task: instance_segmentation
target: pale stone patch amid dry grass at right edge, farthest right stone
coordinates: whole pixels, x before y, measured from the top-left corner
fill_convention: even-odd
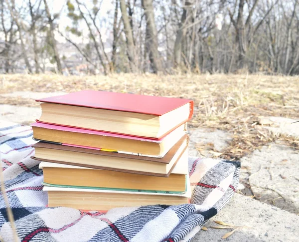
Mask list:
[[[275,133],[291,135],[299,137],[299,122],[295,123],[295,119],[284,118],[284,117],[266,117],[261,120],[262,123],[270,124],[271,127],[264,126]]]

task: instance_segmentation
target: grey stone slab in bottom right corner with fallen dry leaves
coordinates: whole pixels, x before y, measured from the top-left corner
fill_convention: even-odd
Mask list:
[[[219,226],[213,221],[222,221],[235,226],[247,226],[227,239],[221,239],[232,229],[212,229]],[[235,194],[230,203],[199,231],[192,242],[297,242],[299,216],[271,205]]]

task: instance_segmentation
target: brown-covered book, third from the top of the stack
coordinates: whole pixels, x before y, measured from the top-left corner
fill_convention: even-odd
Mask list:
[[[32,145],[35,148],[32,158],[67,165],[168,177],[187,146],[188,135],[185,134],[163,158],[153,158],[38,142]]]

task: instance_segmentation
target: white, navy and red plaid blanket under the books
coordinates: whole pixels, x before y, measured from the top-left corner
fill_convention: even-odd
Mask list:
[[[116,208],[106,214],[47,208],[42,170],[32,160],[32,130],[0,121],[0,159],[5,190],[22,242],[187,242],[230,201],[240,163],[189,158],[191,204]],[[0,237],[13,241],[0,194]]]

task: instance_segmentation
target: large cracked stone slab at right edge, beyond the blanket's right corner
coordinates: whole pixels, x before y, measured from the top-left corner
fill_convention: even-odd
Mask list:
[[[299,214],[299,152],[272,143],[241,159],[240,181],[262,202]]]

